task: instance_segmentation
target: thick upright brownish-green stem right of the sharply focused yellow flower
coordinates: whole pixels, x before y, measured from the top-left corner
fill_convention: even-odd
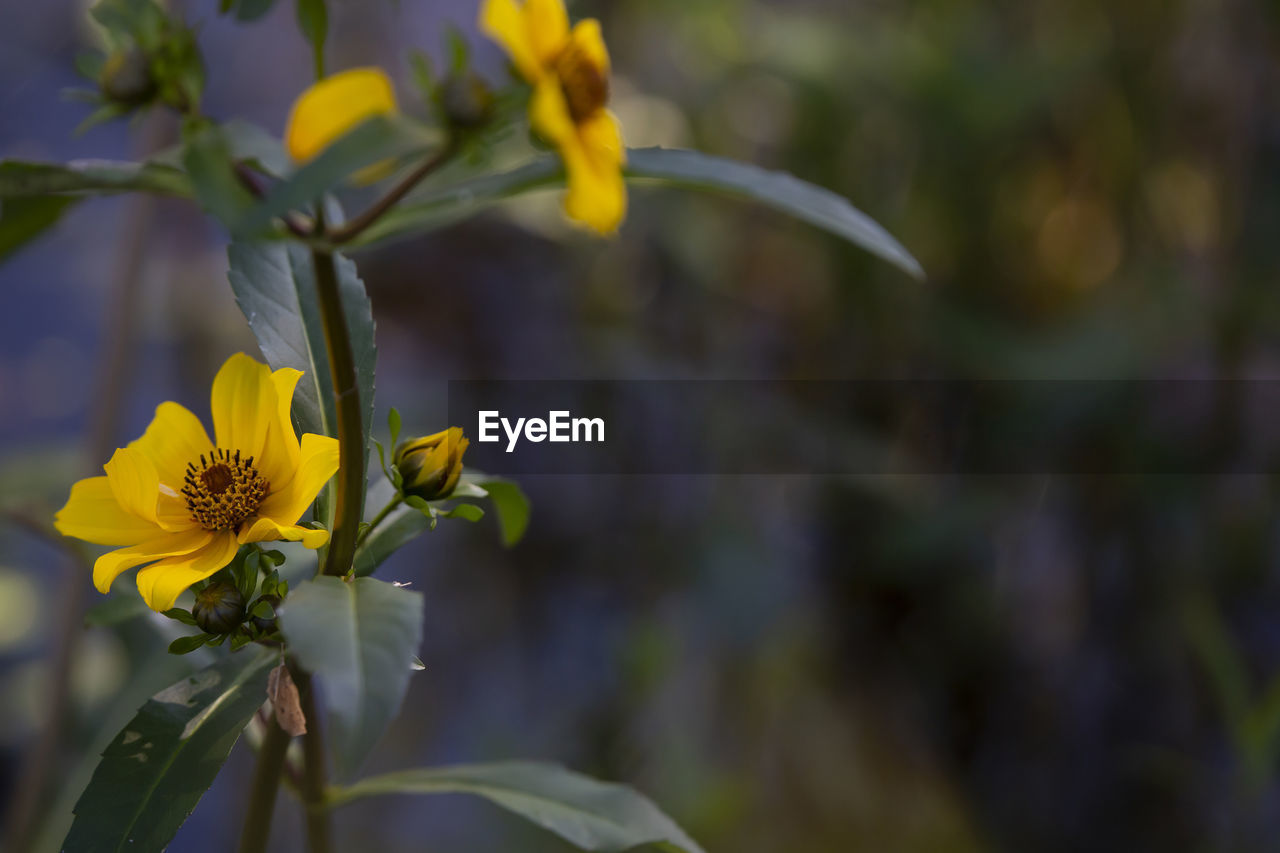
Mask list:
[[[323,219],[317,220],[320,228]],[[325,556],[324,574],[346,575],[356,556],[356,534],[360,530],[361,503],[365,494],[365,428],[360,416],[360,387],[356,384],[356,360],[351,352],[347,315],[338,289],[338,270],[333,254],[311,251],[316,273],[316,297],[324,325],[325,350],[329,352],[329,375],[333,377],[334,405],[338,409],[338,482],[334,500],[333,535]]]

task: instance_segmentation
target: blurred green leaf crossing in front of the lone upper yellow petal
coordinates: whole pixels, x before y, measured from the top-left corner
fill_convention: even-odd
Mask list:
[[[383,160],[420,154],[438,142],[436,133],[404,117],[376,115],[330,145],[288,179],[271,187],[266,197],[232,232],[257,234],[276,216],[311,205],[355,172]]]

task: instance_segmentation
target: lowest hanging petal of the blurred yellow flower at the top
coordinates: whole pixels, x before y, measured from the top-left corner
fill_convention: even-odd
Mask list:
[[[617,119],[604,111],[585,122],[576,143],[561,146],[561,156],[568,177],[564,214],[602,234],[617,231],[627,213]]]

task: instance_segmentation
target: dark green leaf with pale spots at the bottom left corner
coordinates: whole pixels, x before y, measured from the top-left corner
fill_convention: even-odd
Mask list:
[[[266,698],[278,657],[242,652],[155,694],[102,753],[61,849],[163,850]]]

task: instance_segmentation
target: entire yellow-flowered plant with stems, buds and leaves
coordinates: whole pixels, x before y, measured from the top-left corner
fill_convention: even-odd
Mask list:
[[[270,5],[224,0],[221,10],[250,22]],[[91,14],[106,50],[81,63],[93,83],[83,93],[93,104],[87,122],[175,110],[180,143],[142,163],[0,163],[0,257],[92,196],[191,200],[230,234],[228,282],[265,364],[229,355],[211,383],[212,433],[161,402],[146,432],[76,483],[56,514],[61,534],[108,548],[91,573],[100,592],[114,584],[114,596],[133,596],[116,579],[136,570],[141,601],[182,625],[170,652],[218,647],[212,663],[157,693],[119,731],[63,849],[164,849],[248,730],[257,771],[242,850],[265,849],[288,776],[312,850],[332,849],[329,816],[339,806],[453,792],[488,798],[586,850],[698,852],[639,793],[556,765],[360,777],[415,678],[422,638],[421,594],[376,578],[380,564],[440,519],[474,521],[486,506],[515,544],[529,503],[515,483],[463,466],[467,438],[457,426],[425,425],[425,437],[402,439],[390,409],[390,444],[374,441],[372,313],[344,251],[557,187],[571,222],[614,234],[627,181],[644,179],[774,207],[911,274],[915,261],[847,201],[790,175],[696,151],[627,150],[608,109],[600,26],[572,23],[562,0],[483,0],[477,27],[506,51],[509,78],[480,78],[458,47],[442,77],[415,58],[415,93],[397,93],[378,68],[326,73],[325,3],[297,0],[316,82],[282,120],[283,140],[202,111],[209,72],[197,36],[161,5],[100,0]],[[402,104],[425,106],[429,118]],[[530,145],[524,165],[486,170],[488,149],[520,138],[508,131],[526,122],[544,145]],[[470,170],[445,170],[458,161]],[[344,210],[352,183],[374,184],[376,200]],[[626,240],[625,229],[614,238]],[[371,451],[381,476],[370,478]],[[285,553],[276,543],[301,548]],[[289,749],[293,738],[301,751]]]

